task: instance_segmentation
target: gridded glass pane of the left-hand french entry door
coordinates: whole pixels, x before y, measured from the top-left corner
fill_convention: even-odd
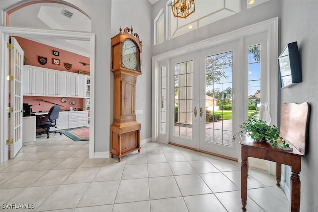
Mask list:
[[[174,136],[192,139],[193,61],[174,65]]]

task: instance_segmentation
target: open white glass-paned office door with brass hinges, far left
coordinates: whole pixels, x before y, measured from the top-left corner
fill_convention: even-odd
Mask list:
[[[11,38],[11,44],[13,49],[10,49],[10,75],[13,76],[13,80],[10,81],[10,104],[13,112],[10,113],[10,139],[13,143],[10,145],[10,157],[14,158],[22,148],[23,50],[14,37]]]

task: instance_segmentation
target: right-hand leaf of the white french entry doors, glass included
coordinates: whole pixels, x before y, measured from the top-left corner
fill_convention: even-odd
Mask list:
[[[238,74],[238,45],[231,42],[200,53],[200,149],[232,158],[239,157],[239,142],[232,142],[232,132],[239,126],[234,121],[241,113],[235,108],[244,93],[237,86],[244,75],[243,70]]]

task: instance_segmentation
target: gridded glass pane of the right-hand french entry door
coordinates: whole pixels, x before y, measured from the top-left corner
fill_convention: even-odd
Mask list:
[[[206,57],[205,142],[232,146],[233,52]]]

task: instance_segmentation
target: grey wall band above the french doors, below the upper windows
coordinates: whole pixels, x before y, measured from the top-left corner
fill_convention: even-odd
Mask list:
[[[156,4],[154,4],[152,20],[155,19],[161,8],[164,9],[164,13],[166,14],[166,2],[167,0],[159,0]],[[171,9],[171,7],[169,7],[169,9]],[[196,10],[196,12],[200,11]],[[247,1],[241,0],[241,12],[203,26],[197,30],[193,30],[186,34],[180,35],[171,40],[167,40],[163,43],[157,44],[153,48],[153,55],[159,55],[161,53],[188,45],[190,43],[196,43],[198,41],[205,40],[236,29],[240,29],[244,26],[249,26],[251,24],[268,20],[274,17],[280,17],[280,1],[270,0],[260,5],[254,6],[250,9],[247,9]]]

